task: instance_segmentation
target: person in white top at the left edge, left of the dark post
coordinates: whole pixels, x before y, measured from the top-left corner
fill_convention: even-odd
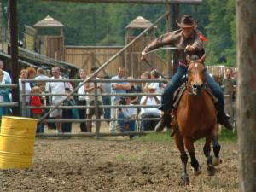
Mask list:
[[[4,79],[3,77],[4,77],[3,70],[0,69],[0,84],[10,84],[8,79]],[[0,103],[10,102],[9,91],[10,91],[9,88],[0,88]],[[11,113],[10,108],[0,107],[0,117],[2,117],[3,115],[9,115],[10,113]]]

